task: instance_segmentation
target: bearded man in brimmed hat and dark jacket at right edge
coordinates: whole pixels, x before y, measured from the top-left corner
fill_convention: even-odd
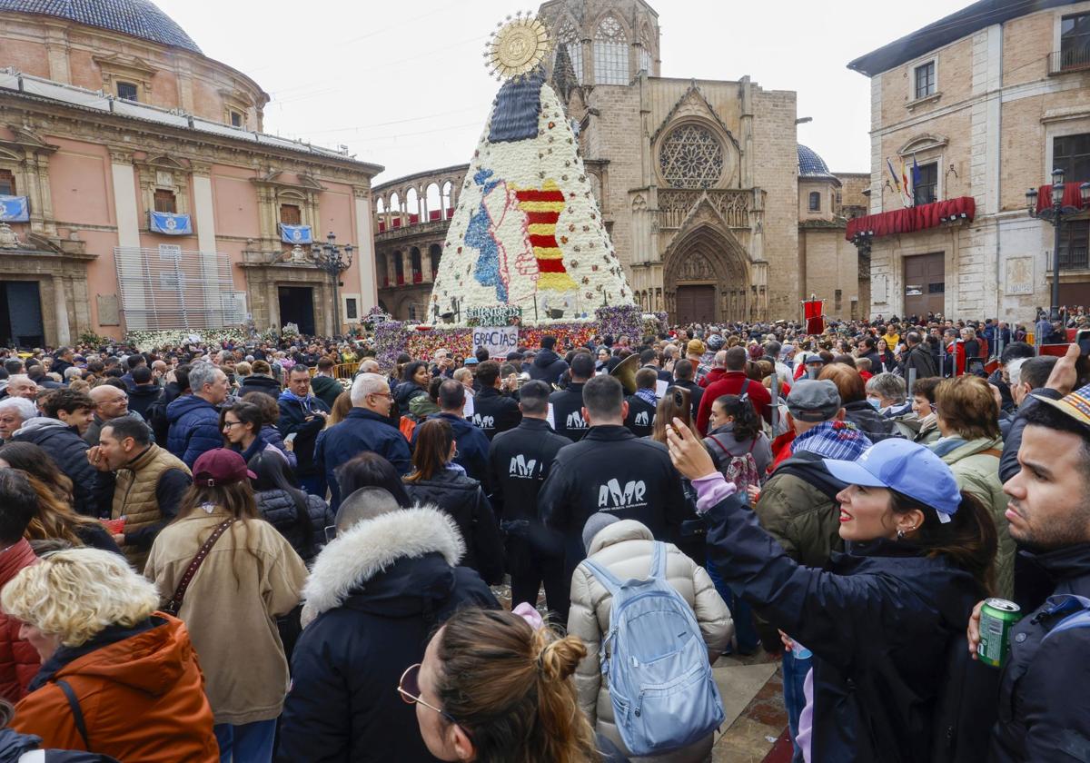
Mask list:
[[[1009,635],[989,755],[1001,763],[1090,760],[1090,694],[1078,688],[1090,665],[1083,619],[1090,608],[1090,386],[1069,391],[1078,354],[1071,344],[1046,385],[1067,393],[1040,396],[1041,404],[1019,413],[1019,471],[1003,486],[1010,537],[1054,588],[1034,609],[1022,607]],[[982,604],[969,621],[973,653]],[[1071,616],[1083,627],[1071,627]]]

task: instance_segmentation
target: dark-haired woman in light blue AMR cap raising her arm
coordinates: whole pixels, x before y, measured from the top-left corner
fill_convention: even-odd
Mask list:
[[[988,595],[995,525],[928,448],[883,440],[859,461],[825,459],[847,487],[829,571],[802,567],[758,524],[700,440],[670,432],[675,467],[692,480],[719,574],[759,615],[814,654],[811,761],[930,761],[947,655]],[[994,698],[981,697],[982,701]],[[967,734],[960,728],[958,734]],[[945,735],[943,735],[945,737]]]

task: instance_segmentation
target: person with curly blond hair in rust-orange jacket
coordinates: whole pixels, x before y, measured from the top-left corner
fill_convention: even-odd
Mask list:
[[[189,632],[156,611],[155,586],[122,557],[56,552],[20,571],[0,603],[41,657],[16,731],[123,761],[218,760]]]

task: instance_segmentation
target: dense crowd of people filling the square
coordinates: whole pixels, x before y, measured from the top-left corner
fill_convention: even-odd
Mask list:
[[[764,650],[797,761],[1090,760],[1065,328],[0,351],[0,749],[707,761]]]

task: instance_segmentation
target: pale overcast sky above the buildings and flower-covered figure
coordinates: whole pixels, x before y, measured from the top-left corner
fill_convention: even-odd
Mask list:
[[[514,0],[156,0],[210,56],[271,96],[265,131],[336,147],[387,169],[377,182],[469,161],[498,88],[488,34]],[[834,171],[869,171],[870,81],[852,58],[962,1],[651,0],[662,74],[798,93],[799,142]]]

